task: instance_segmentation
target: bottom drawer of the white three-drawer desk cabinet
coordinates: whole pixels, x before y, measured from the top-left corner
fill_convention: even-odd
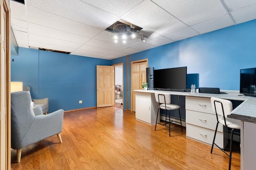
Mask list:
[[[212,145],[214,130],[186,123],[186,136]],[[223,147],[223,133],[217,131],[215,143]]]

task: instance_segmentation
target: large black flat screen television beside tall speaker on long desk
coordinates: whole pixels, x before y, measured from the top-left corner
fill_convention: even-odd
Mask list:
[[[185,92],[187,89],[187,67],[154,70],[154,89]]]

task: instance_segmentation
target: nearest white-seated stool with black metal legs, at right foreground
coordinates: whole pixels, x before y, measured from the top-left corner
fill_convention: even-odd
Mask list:
[[[231,119],[231,118],[227,117],[227,115],[229,115],[230,112],[233,110],[232,102],[230,102],[229,100],[212,97],[211,98],[211,103],[212,103],[212,109],[216,113],[216,117],[217,117],[217,125],[216,125],[216,130],[215,130],[215,133],[214,133],[214,138],[213,138],[213,141],[212,141],[211,153],[212,153],[214,145],[216,145],[216,147],[218,147],[220,150],[222,150],[229,157],[228,169],[230,170],[231,159],[232,159],[233,134],[234,134],[234,129],[240,129],[240,120]],[[232,129],[231,130],[231,137],[230,137],[230,153],[229,154],[223,148],[220,148],[215,143],[215,137],[216,137],[216,133],[217,133],[219,123],[221,125],[224,125],[224,126],[229,127],[229,128]]]

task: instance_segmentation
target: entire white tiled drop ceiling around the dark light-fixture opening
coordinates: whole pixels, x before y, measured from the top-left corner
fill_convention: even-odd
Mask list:
[[[256,19],[256,0],[25,0],[10,1],[18,47],[116,59]],[[118,20],[142,27],[141,37],[114,43]]]

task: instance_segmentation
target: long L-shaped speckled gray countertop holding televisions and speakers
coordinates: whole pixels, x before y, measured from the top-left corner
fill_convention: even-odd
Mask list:
[[[227,100],[240,100],[244,101],[236,109],[234,109],[228,117],[233,119],[238,119],[241,121],[247,121],[251,123],[256,123],[256,97],[252,96],[238,96],[238,90],[220,90],[220,94],[208,94],[208,93],[190,93],[190,92],[172,92],[172,91],[158,91],[158,90],[134,90],[135,92],[145,92],[145,93],[156,93],[156,92],[166,92],[171,95],[181,95],[181,96],[193,96],[200,98],[222,98]]]

